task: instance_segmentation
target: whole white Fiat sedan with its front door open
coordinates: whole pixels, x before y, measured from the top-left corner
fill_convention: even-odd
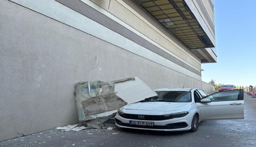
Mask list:
[[[202,120],[244,119],[244,91],[208,95],[200,89],[156,89],[156,97],[125,105],[116,114],[121,128],[195,132]]]

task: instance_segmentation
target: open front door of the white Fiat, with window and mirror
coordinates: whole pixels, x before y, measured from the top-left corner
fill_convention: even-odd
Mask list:
[[[242,89],[213,93],[197,104],[200,109],[200,120],[244,119],[244,90]]]

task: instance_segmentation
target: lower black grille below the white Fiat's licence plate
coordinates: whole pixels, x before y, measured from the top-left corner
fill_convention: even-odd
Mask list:
[[[115,118],[116,119],[116,118]],[[139,126],[139,125],[130,125],[129,123],[123,123],[122,121],[116,119],[117,125],[133,128],[147,128],[147,129],[181,129],[188,127],[186,122],[170,123],[165,126]]]

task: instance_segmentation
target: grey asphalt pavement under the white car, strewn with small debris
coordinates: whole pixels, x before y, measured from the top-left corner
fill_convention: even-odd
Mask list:
[[[244,97],[245,119],[202,121],[196,132],[47,130],[2,141],[0,147],[256,147],[256,98],[251,97]]]

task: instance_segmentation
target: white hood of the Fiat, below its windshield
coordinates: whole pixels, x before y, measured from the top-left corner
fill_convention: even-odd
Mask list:
[[[138,102],[125,105],[127,110],[174,111],[188,107],[189,102]]]

